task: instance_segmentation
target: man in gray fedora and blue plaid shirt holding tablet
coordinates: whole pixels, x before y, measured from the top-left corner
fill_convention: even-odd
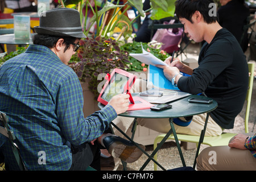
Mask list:
[[[0,110],[9,118],[27,169],[100,170],[101,146],[127,163],[137,160],[142,155],[137,147],[107,132],[109,123],[127,110],[128,94],[84,118],[80,81],[67,65],[79,40],[86,38],[79,12],[48,10],[35,31],[34,44],[0,69]],[[4,141],[0,135],[6,167],[18,169]]]

